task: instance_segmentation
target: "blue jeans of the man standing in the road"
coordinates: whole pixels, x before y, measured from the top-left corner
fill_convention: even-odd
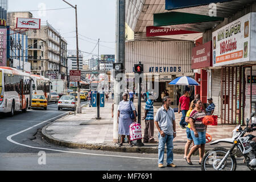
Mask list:
[[[167,165],[171,164],[174,160],[174,153],[172,152],[172,149],[174,148],[174,143],[172,140],[174,140],[174,135],[167,135],[165,134],[164,137],[158,133],[158,164],[163,164],[164,160],[164,146],[167,146]]]

